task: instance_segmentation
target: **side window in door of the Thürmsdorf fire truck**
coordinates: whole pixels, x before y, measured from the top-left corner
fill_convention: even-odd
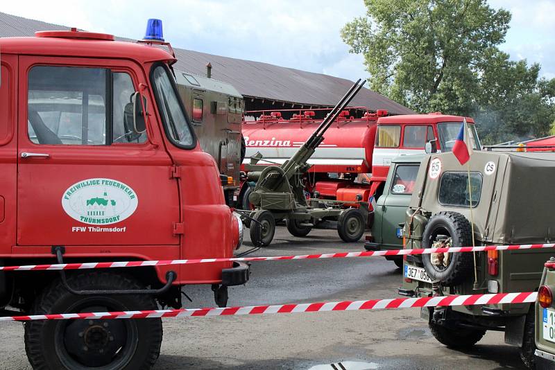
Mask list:
[[[133,124],[134,93],[128,73],[33,67],[28,74],[28,137],[48,145],[144,143],[146,132],[136,132]]]

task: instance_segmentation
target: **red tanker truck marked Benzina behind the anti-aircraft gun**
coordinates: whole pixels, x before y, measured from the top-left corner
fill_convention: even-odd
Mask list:
[[[243,134],[246,143],[244,165],[257,152],[258,164],[287,161],[318,127],[329,109],[245,112]],[[285,119],[284,116],[290,117]],[[479,148],[474,121],[475,147]],[[388,116],[385,110],[369,112],[364,107],[345,109],[325,133],[323,143],[308,163],[312,165],[303,181],[305,190],[323,199],[368,202],[371,195],[382,194],[391,159],[399,155],[434,150],[451,150],[463,117],[441,113]],[[245,169],[245,167],[243,167]],[[239,198],[248,207],[253,184],[244,182]]]

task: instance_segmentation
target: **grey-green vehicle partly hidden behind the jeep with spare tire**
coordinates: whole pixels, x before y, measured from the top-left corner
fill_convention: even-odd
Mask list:
[[[402,155],[391,161],[384,192],[372,203],[371,231],[366,236],[367,251],[403,248],[402,225],[409,206],[418,166],[424,155]],[[386,256],[398,267],[403,266],[402,256]]]

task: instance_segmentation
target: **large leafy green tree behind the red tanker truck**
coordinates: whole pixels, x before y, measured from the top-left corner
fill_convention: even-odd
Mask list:
[[[364,55],[370,88],[417,112],[484,119],[483,141],[543,135],[555,83],[499,51],[511,13],[485,0],[365,0],[341,36]]]

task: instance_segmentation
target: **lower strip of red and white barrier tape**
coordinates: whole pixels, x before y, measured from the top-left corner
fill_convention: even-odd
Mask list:
[[[273,313],[325,312],[351,310],[384,310],[392,308],[474,306],[499,303],[532,303],[536,292],[450,295],[445,297],[372,299],[369,301],[341,301],[322,303],[280,304],[230,308],[183,308],[180,310],[146,310],[123,312],[81,312],[51,315],[0,317],[0,321],[32,321],[61,319],[148,319],[153,317],[203,317],[266,315]]]

